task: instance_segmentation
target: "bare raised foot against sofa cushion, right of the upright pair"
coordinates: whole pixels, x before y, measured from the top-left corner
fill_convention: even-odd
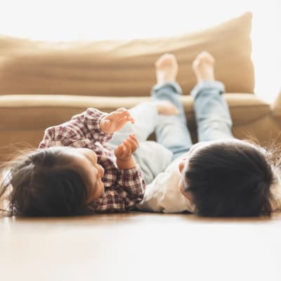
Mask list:
[[[214,57],[207,51],[197,55],[197,58],[195,58],[192,63],[197,82],[200,82],[201,80],[214,80],[214,63]]]

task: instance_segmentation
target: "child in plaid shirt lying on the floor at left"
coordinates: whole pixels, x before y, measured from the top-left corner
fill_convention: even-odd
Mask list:
[[[0,198],[9,192],[11,215],[73,216],[133,209],[145,190],[143,174],[133,157],[138,138],[143,149],[146,145],[153,150],[152,156],[156,153],[159,159],[162,155],[162,164],[154,173],[171,161],[171,152],[141,137],[154,127],[140,123],[133,126],[136,134],[124,135],[129,127],[122,130],[124,125],[134,123],[132,115],[145,111],[146,124],[158,113],[177,113],[173,104],[162,100],[141,103],[130,112],[119,108],[106,114],[89,108],[68,122],[46,129],[38,150],[23,153],[6,166],[8,174],[0,185]],[[122,141],[116,136],[112,139],[118,131],[125,136]],[[139,161],[143,164],[142,159]]]

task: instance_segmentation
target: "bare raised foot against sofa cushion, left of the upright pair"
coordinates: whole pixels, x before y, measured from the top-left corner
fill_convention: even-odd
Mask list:
[[[155,63],[157,84],[176,81],[178,74],[178,63],[176,57],[171,53],[165,53]]]

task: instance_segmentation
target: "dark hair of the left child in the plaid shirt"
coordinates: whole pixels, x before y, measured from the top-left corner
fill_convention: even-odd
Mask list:
[[[84,214],[86,185],[60,150],[44,149],[17,157],[0,183],[8,211],[18,216],[73,216]]]

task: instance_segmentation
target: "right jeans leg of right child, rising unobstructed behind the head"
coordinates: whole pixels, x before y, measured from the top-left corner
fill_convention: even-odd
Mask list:
[[[219,81],[200,81],[191,91],[194,98],[198,141],[234,138],[233,122],[226,100],[221,94],[224,86]]]

